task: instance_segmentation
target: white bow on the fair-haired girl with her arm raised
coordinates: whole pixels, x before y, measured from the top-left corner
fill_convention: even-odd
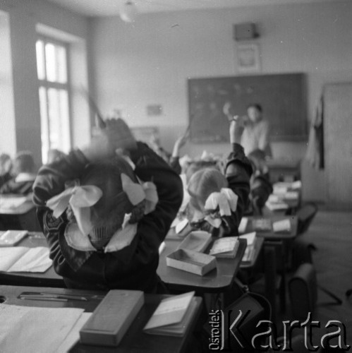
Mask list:
[[[229,188],[222,188],[220,192],[211,193],[205,201],[205,210],[217,210],[219,207],[220,216],[230,216],[231,211],[235,212],[237,208],[238,196]],[[213,227],[219,228],[221,218],[214,215],[207,215],[205,220]]]

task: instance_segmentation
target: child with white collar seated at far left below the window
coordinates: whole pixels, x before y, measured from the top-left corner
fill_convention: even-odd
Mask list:
[[[32,152],[18,152],[13,160],[13,178],[1,186],[0,193],[17,193],[26,196],[32,192],[35,181],[35,162]]]

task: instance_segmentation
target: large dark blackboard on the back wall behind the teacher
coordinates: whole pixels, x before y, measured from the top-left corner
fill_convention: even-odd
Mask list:
[[[193,143],[229,141],[229,121],[223,113],[247,114],[248,104],[259,103],[270,124],[270,138],[307,138],[306,89],[303,73],[188,79],[190,140]]]

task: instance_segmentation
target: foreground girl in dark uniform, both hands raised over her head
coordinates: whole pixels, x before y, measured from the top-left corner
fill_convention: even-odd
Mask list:
[[[134,170],[116,156],[121,148]],[[75,179],[80,186],[65,190]],[[163,292],[158,250],[181,205],[181,179],[121,119],[106,121],[87,148],[43,166],[33,190],[50,258],[68,287]]]

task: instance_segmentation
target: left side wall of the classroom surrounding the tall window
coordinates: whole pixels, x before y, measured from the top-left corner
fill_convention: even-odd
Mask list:
[[[87,19],[42,0],[1,1],[0,10],[8,14],[10,22],[12,87],[9,89],[13,92],[9,94],[13,95],[12,108],[15,117],[15,121],[13,116],[11,117],[12,125],[6,129],[6,133],[13,140],[15,140],[13,136],[16,136],[16,150],[31,150],[37,164],[41,164],[40,107],[35,57],[36,25],[42,23],[86,40]],[[86,57],[83,59],[86,61]],[[87,70],[85,61],[82,61],[80,70],[82,68]],[[87,73],[85,76],[87,81]],[[11,111],[11,107],[6,109]],[[80,133],[74,134],[76,137],[78,135],[78,141],[74,140],[74,144],[90,138],[90,129],[87,128],[90,126],[88,109],[81,109],[79,116],[80,119],[82,116],[85,118],[83,122],[80,121]],[[15,152],[13,145],[10,146],[11,144],[9,152]]]

